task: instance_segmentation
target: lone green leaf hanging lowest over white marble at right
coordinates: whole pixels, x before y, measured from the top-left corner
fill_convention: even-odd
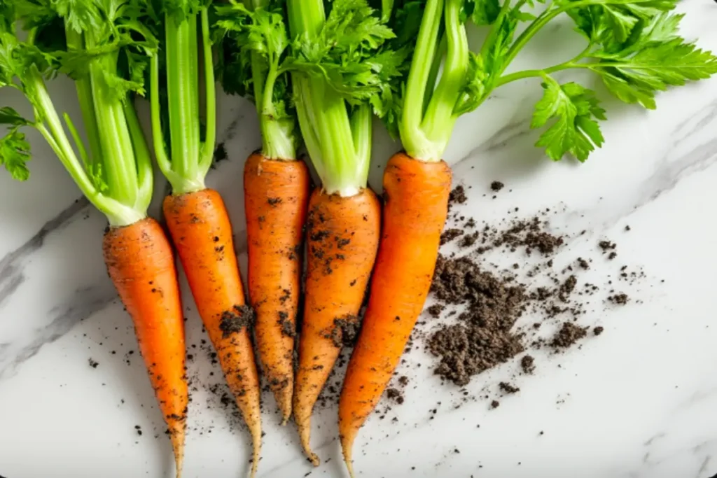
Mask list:
[[[551,77],[544,77],[543,97],[536,103],[531,128],[541,128],[554,123],[541,135],[536,146],[546,148],[546,154],[559,161],[570,153],[579,161],[604,141],[596,120],[604,120],[605,111],[600,107],[595,93],[577,83],[559,85]]]

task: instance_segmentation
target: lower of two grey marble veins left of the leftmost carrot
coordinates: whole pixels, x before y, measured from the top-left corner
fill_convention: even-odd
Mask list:
[[[51,322],[32,331],[32,339],[19,348],[0,343],[0,379],[14,374],[19,365],[33,358],[44,345],[62,338],[77,323],[103,310],[117,297],[110,287],[92,286],[77,290],[64,304],[52,307]]]

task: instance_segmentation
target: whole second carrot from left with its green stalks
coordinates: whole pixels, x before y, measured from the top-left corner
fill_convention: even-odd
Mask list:
[[[244,301],[226,206],[219,193],[204,183],[217,129],[209,4],[185,6],[178,9],[173,2],[161,2],[161,18],[146,16],[146,27],[163,38],[164,52],[163,62],[153,54],[150,66],[154,150],[172,186],[163,203],[169,232],[224,377],[252,435],[253,477],[262,438],[260,385],[251,341],[253,312]],[[201,70],[204,125],[199,117]],[[161,80],[166,82],[163,89]]]

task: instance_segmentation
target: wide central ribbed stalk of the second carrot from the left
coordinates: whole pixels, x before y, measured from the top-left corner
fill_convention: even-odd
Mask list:
[[[166,16],[167,95],[172,171],[181,181],[172,183],[175,194],[204,189],[199,174],[199,73],[196,14],[177,24]]]

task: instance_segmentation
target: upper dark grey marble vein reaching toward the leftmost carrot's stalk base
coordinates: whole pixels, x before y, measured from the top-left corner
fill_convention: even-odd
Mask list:
[[[0,259],[0,306],[17,290],[25,276],[22,272],[22,263],[34,252],[42,247],[49,234],[60,231],[70,224],[75,216],[79,215],[88,205],[89,201],[82,197],[60,211],[60,214],[47,221],[34,236],[14,251],[5,254]]]

